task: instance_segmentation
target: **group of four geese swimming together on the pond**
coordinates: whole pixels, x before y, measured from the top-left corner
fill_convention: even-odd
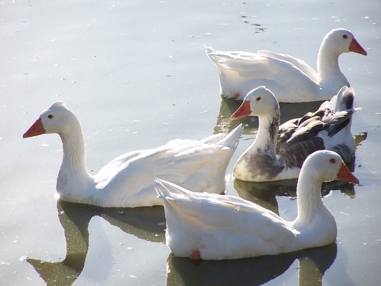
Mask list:
[[[278,255],[334,243],[335,218],[322,200],[323,182],[359,184],[346,167],[353,161],[351,132],[355,91],[339,67],[339,55],[367,55],[351,31],[331,30],[317,55],[317,71],[301,59],[270,51],[223,52],[204,46],[217,67],[220,94],[242,100],[231,120],[258,116],[255,140],[234,165],[238,180],[298,178],[295,220],[258,204],[224,195],[227,167],[243,125],[201,140],[174,139],[116,157],[96,175],[86,166],[78,117],[63,102],[44,109],[23,138],[56,133],[62,163],[59,199],[100,207],[163,205],[166,244],[175,256],[194,260]],[[317,110],[280,124],[279,102],[324,101]],[[238,152],[238,151],[237,151]]]

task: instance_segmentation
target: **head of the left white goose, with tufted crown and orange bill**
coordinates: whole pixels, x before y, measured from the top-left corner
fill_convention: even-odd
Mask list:
[[[22,137],[28,138],[49,133],[69,134],[78,129],[78,124],[77,116],[66,107],[65,103],[57,101],[40,113],[36,122]]]

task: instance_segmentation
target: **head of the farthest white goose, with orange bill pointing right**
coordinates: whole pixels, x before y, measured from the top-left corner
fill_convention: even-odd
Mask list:
[[[367,55],[364,48],[357,42],[355,36],[347,29],[339,28],[331,30],[325,37],[320,47],[322,51],[329,50],[335,55],[347,52],[355,52]]]

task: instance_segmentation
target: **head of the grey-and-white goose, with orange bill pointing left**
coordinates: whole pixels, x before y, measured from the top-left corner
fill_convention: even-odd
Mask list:
[[[274,93],[265,86],[250,90],[243,100],[242,105],[230,117],[231,120],[247,115],[269,116],[279,112],[279,103]]]

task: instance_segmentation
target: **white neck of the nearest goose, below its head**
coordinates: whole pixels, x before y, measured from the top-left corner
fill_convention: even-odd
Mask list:
[[[294,221],[297,229],[308,226],[322,209],[327,209],[321,197],[322,180],[313,175],[314,170],[303,168],[297,185],[298,216]]]

